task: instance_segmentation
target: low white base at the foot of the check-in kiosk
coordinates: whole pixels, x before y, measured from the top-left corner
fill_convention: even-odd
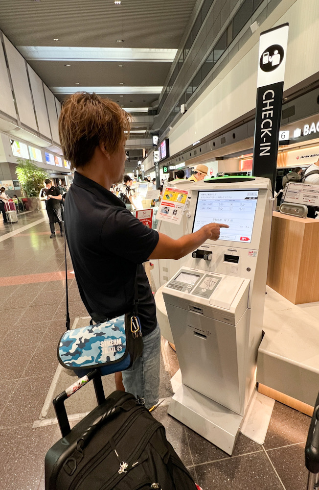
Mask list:
[[[231,456],[243,417],[186,385],[172,398],[168,414]]]

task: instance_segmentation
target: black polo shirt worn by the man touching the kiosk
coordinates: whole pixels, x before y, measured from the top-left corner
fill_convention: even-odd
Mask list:
[[[64,207],[75,278],[88,312],[113,318],[132,308],[138,278],[138,316],[143,335],[156,327],[154,297],[142,265],[159,234],[138,221],[125,204],[75,172]]]

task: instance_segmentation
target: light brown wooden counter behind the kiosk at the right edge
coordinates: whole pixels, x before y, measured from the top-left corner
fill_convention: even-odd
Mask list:
[[[294,304],[319,301],[319,220],[273,213],[267,284]]]

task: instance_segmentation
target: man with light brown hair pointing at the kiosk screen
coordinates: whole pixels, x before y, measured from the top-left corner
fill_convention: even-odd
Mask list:
[[[205,240],[217,240],[220,225],[205,225],[179,240],[138,221],[109,191],[124,174],[129,115],[115,102],[86,92],[64,101],[59,134],[65,158],[76,169],[65,202],[68,246],[81,298],[93,318],[114,318],[131,310],[138,281],[138,316],[144,349],[123,371],[127,392],[145,406],[158,403],[160,329],[154,297],[143,268],[148,259],[179,259]],[[121,387],[120,373],[115,375]]]

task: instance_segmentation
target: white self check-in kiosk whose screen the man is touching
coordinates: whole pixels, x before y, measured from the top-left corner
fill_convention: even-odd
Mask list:
[[[182,373],[168,413],[228,454],[255,387],[272,209],[269,179],[194,183],[186,233],[210,222],[229,228],[185,257],[162,289]]]

